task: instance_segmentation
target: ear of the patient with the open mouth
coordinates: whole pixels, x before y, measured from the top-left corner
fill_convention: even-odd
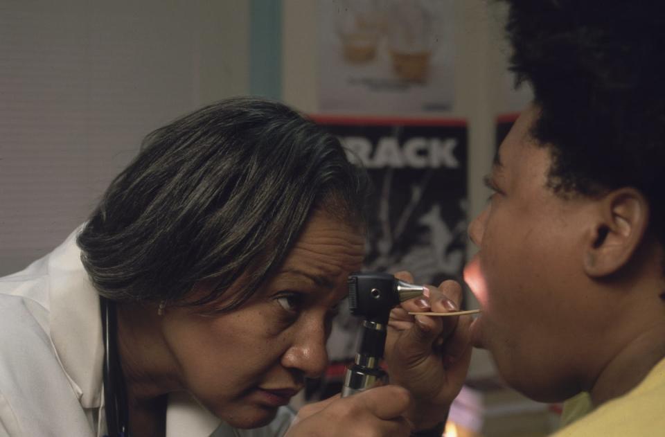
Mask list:
[[[599,199],[585,241],[586,274],[606,276],[626,265],[644,238],[648,221],[646,197],[634,188],[620,188]]]

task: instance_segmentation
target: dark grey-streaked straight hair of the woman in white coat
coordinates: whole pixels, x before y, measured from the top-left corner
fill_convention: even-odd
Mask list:
[[[155,130],[78,235],[112,301],[210,303],[241,276],[233,309],[281,265],[313,208],[364,226],[368,179],[332,135],[289,107],[233,98]]]

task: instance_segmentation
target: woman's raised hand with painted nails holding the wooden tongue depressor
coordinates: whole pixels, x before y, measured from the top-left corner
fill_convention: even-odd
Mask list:
[[[396,278],[413,283],[408,272]],[[470,316],[420,316],[409,312],[452,312],[459,309],[462,288],[446,280],[427,286],[429,296],[402,302],[391,311],[386,340],[386,364],[391,384],[411,392],[414,402],[407,418],[416,429],[430,429],[447,417],[461,390],[471,359]]]

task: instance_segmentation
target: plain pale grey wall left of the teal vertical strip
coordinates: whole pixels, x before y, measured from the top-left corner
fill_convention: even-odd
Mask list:
[[[0,3],[0,275],[85,220],[151,130],[247,93],[246,0]]]

